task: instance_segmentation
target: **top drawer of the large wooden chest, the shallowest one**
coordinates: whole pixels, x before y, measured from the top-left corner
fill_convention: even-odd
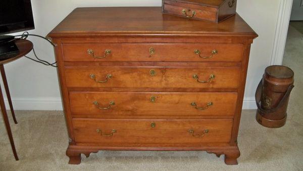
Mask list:
[[[239,62],[242,44],[64,44],[64,61]]]

